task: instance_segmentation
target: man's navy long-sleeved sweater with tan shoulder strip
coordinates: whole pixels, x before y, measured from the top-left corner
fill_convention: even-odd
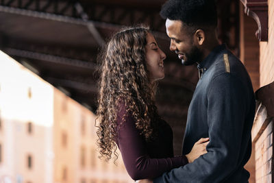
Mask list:
[[[153,182],[248,182],[255,99],[249,75],[225,45],[198,65],[202,69],[188,109],[183,154],[208,136],[207,154]]]

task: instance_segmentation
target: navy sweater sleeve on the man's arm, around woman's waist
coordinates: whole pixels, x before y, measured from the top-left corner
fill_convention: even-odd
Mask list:
[[[223,182],[232,175],[242,166],[241,149],[247,148],[241,143],[251,130],[245,126],[249,101],[247,89],[238,78],[229,73],[215,77],[208,89],[208,153],[153,182]]]

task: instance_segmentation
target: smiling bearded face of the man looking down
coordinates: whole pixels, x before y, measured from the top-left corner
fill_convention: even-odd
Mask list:
[[[202,53],[195,45],[194,35],[190,35],[183,27],[182,21],[171,21],[166,19],[166,34],[171,38],[169,49],[178,54],[182,64],[191,65],[201,62]]]

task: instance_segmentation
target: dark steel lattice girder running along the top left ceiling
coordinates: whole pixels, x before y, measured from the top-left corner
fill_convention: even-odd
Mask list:
[[[79,8],[81,6],[82,9]],[[84,25],[92,23],[96,27],[113,29],[146,23],[153,31],[164,32],[164,20],[160,18],[159,11],[99,3],[82,4],[80,1],[1,0],[0,2],[0,12]]]

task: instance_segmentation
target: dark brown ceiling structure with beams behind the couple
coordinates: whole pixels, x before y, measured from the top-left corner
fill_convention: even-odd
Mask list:
[[[182,66],[169,51],[165,0],[1,0],[0,49],[92,112],[97,109],[97,54],[122,27],[149,25],[166,53],[157,106],[173,127],[180,152],[188,105],[198,81],[196,66]],[[238,0],[217,1],[219,38],[238,54]],[[231,34],[234,32],[234,34]]]

